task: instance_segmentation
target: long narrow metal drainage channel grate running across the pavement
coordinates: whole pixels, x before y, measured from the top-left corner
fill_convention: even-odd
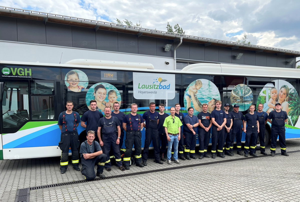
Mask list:
[[[293,153],[293,152],[300,152],[300,150],[290,151],[290,152],[286,152],[286,153]],[[280,155],[280,153],[277,153],[276,155]],[[269,154],[267,156],[271,156],[271,154]],[[199,164],[176,166],[176,167],[162,168],[162,169],[157,169],[157,170],[147,170],[147,171],[142,171],[142,172],[137,172],[137,173],[128,173],[128,174],[122,174],[122,175],[107,176],[105,178],[95,178],[92,180],[78,180],[78,181],[73,181],[73,182],[63,182],[63,183],[57,183],[57,184],[51,184],[51,185],[42,185],[42,186],[30,187],[30,190],[59,187],[59,186],[64,186],[64,185],[72,185],[72,184],[79,184],[79,183],[84,183],[84,182],[99,181],[99,180],[104,180],[104,179],[129,177],[129,176],[135,176],[135,175],[143,175],[143,174],[147,174],[147,173],[155,173],[155,172],[162,172],[162,171],[167,171],[167,170],[176,170],[176,169],[182,169],[182,168],[219,164],[219,163],[226,163],[226,162],[232,162],[232,161],[241,161],[241,160],[246,160],[246,159],[262,158],[262,157],[265,157],[265,155],[259,155],[257,157],[251,156],[251,157],[244,157],[244,158],[228,159],[228,160],[223,160],[223,161],[213,161],[213,162],[206,162],[206,163],[199,163]]]

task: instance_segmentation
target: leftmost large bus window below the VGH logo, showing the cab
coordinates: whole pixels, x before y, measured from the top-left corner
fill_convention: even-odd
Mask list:
[[[5,128],[19,128],[29,120],[28,82],[5,82],[2,97],[3,133]]]

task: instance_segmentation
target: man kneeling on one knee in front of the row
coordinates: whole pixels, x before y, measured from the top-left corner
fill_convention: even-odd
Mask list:
[[[103,168],[107,155],[103,154],[99,143],[94,141],[95,131],[88,131],[86,139],[80,146],[81,174],[85,176],[86,180],[92,180],[96,176],[104,178]],[[95,165],[97,165],[96,175],[94,170]]]

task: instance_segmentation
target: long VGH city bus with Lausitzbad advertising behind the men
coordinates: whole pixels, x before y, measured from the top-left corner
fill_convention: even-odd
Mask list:
[[[289,117],[286,138],[300,137],[297,69],[198,63],[182,71],[169,71],[156,70],[145,63],[86,59],[66,64],[0,61],[0,67],[1,160],[60,156],[61,132],[57,122],[68,100],[73,101],[73,110],[80,116],[89,110],[92,99],[97,100],[97,109],[101,111],[117,101],[120,111],[130,113],[130,105],[136,103],[140,114],[149,110],[150,102],[156,106],[165,104],[166,113],[179,103],[184,115],[187,107],[193,107],[197,115],[203,103],[208,104],[211,112],[216,100],[229,103],[229,111],[239,104],[243,114],[249,112],[251,104],[257,109],[262,103],[268,113],[273,110],[272,103],[278,101]],[[101,95],[99,85],[106,90]],[[115,100],[108,98],[109,92]],[[265,143],[269,142],[270,132],[267,124]],[[83,142],[85,128],[79,125],[78,134]],[[143,129],[142,147],[144,140]]]

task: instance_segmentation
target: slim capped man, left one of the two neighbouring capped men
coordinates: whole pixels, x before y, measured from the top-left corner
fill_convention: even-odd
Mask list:
[[[225,133],[224,133],[224,146],[223,146],[223,154],[226,154],[228,156],[233,156],[233,152],[230,153],[230,144],[231,144],[231,136],[232,136],[232,113],[228,112],[230,108],[230,104],[226,103],[224,104],[224,112],[227,115],[226,118],[226,124],[224,125],[225,127]]]

